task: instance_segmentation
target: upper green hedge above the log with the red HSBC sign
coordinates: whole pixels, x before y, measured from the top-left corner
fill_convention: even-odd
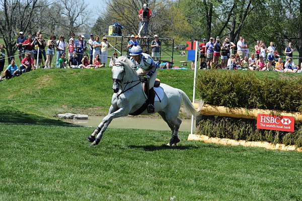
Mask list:
[[[302,75],[203,71],[197,89],[207,104],[302,112]]]

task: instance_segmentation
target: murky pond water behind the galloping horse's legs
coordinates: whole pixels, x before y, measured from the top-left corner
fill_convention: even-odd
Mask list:
[[[102,121],[103,116],[89,116],[89,119],[78,120],[70,119],[66,120],[67,122],[83,125],[83,126],[92,126],[96,127]],[[135,129],[152,129],[152,130],[170,130],[167,123],[158,117],[148,118],[148,117],[119,117],[111,121],[110,128],[135,128]],[[194,121],[195,128],[195,121]],[[180,125],[181,131],[190,131],[191,130],[191,119],[182,119]]]

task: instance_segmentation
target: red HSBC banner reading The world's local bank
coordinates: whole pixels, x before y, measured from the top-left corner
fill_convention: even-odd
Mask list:
[[[293,116],[274,116],[270,114],[258,114],[257,128],[268,130],[294,131]]]

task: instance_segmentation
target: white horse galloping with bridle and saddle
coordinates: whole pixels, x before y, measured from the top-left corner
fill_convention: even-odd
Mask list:
[[[146,108],[142,107],[147,98],[143,92],[141,78],[136,75],[132,65],[130,59],[125,56],[120,56],[115,60],[112,67],[114,94],[112,95],[111,106],[108,115],[88,137],[92,146],[99,144],[112,119],[128,114],[133,115],[133,113],[139,113],[139,110],[142,111],[141,114],[149,114]],[[181,101],[183,101],[187,113],[195,115],[196,110],[189,97],[182,90],[166,84],[161,84],[159,88],[163,90],[163,95],[160,101],[155,101],[155,112],[158,112],[171,128],[172,137],[168,145],[174,146],[180,142],[177,135],[181,124],[181,119],[178,118]]]

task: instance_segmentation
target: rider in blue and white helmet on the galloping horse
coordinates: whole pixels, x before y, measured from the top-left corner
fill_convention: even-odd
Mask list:
[[[134,70],[138,76],[147,76],[148,78],[148,113],[154,113],[154,98],[155,91],[153,89],[155,79],[157,77],[157,65],[154,62],[153,58],[146,53],[142,53],[142,49],[140,46],[133,46],[130,50],[129,55],[131,56],[131,61],[133,62]]]

